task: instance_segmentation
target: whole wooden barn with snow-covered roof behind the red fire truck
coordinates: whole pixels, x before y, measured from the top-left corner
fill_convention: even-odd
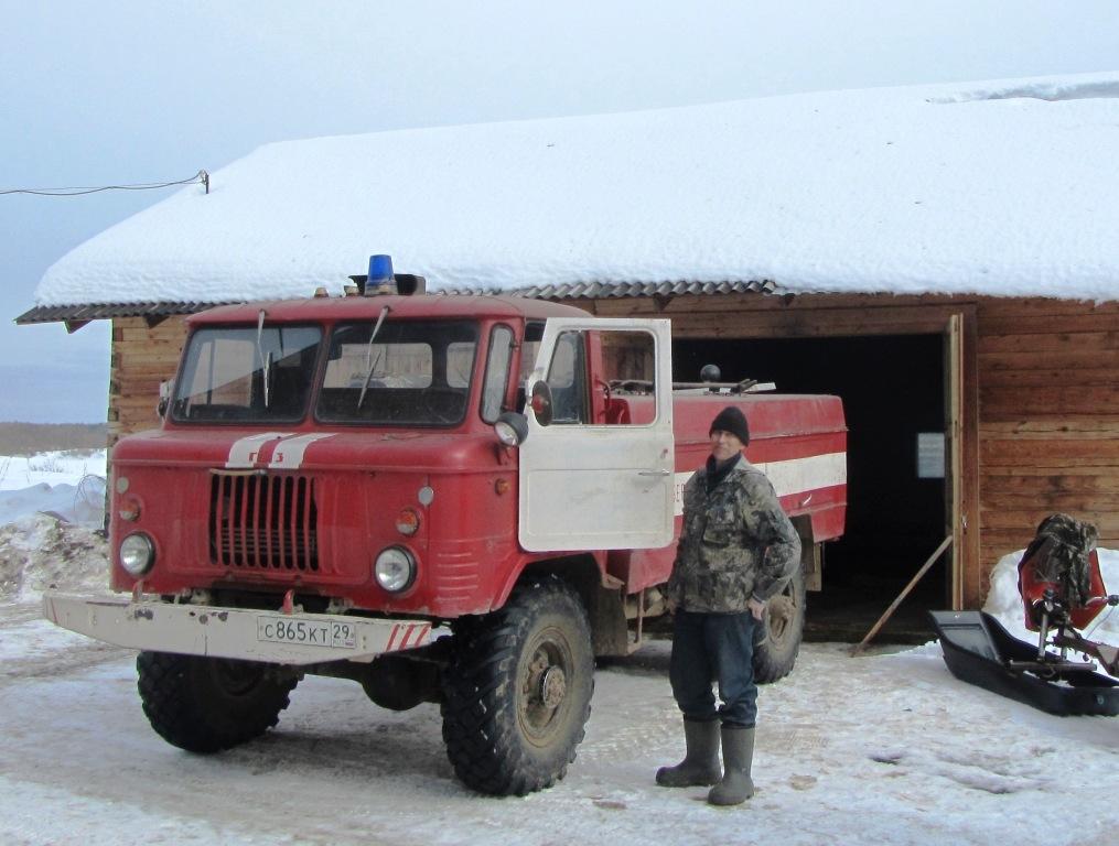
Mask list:
[[[1119,79],[1111,84],[1119,94]],[[1119,548],[1119,255],[1104,232],[1119,178],[1078,156],[1091,126],[1119,124],[1119,101],[1078,99],[1074,85],[1056,86],[1063,94],[1052,98],[1036,96],[1044,85],[1019,88],[1027,93],[894,91],[876,101],[875,121],[857,120],[867,105],[852,93],[859,96],[669,110],[669,123],[667,113],[643,113],[604,116],[598,129],[571,118],[431,130],[419,142],[378,133],[270,145],[216,173],[214,196],[191,189],[79,247],[18,321],[70,330],[112,321],[115,441],[158,425],[159,383],[175,374],[185,315],[318,285],[340,291],[370,251],[414,256],[398,258],[398,269],[423,274],[430,289],[501,289],[602,316],[670,317],[677,379],[715,363],[726,379],[843,398],[848,525],[827,551],[824,606],[850,609],[865,630],[951,535],[920,602],[979,607],[995,563],[1050,513],[1091,521],[1101,545]],[[1029,102],[999,105],[1016,96]],[[821,146],[812,122],[837,115],[857,131],[821,129],[835,135]],[[712,149],[736,121],[749,129]],[[790,124],[814,143],[790,144]],[[1068,140],[1070,126],[1081,136]],[[747,135],[758,158],[787,165],[744,169]],[[499,141],[511,152],[495,156]],[[681,151],[696,148],[689,162],[731,162],[688,172],[702,207],[681,203],[673,186],[642,188],[650,173],[687,170]],[[872,150],[878,158],[867,164]],[[399,197],[411,188],[419,199],[397,201],[391,216],[363,206],[363,179],[358,188],[330,179],[359,172],[359,159],[393,155],[393,172],[376,171],[366,188]],[[632,180],[630,159],[643,167]],[[1024,178],[1031,169],[1044,177]],[[282,190],[272,180],[280,171]],[[555,199],[573,172],[586,192]],[[790,188],[825,177],[838,179],[834,191],[798,198]],[[464,184],[488,193],[460,212]],[[367,231],[378,232],[376,249]],[[225,259],[245,244],[261,249],[258,268],[245,270],[239,254]]]

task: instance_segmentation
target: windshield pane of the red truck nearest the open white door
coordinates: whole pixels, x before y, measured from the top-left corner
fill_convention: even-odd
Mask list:
[[[467,412],[478,349],[469,322],[337,326],[316,415],[328,422],[453,426]],[[373,343],[370,343],[370,340]]]

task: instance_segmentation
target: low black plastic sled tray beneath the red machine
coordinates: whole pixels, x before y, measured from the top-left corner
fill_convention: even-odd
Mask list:
[[[982,611],[929,611],[957,678],[1059,716],[1119,715],[1119,682],[1088,671],[1053,672],[1042,678],[1012,667],[1035,662],[1037,647],[1012,637]]]

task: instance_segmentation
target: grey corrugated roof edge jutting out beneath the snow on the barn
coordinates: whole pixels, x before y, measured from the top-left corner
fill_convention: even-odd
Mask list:
[[[771,279],[758,282],[574,282],[560,285],[529,285],[523,288],[450,287],[431,292],[457,296],[504,294],[529,300],[595,300],[638,296],[680,296],[684,294],[774,294],[778,286]],[[16,317],[16,323],[77,323],[113,317],[168,317],[176,314],[195,314],[223,303],[182,303],[151,301],[145,303],[105,303],[76,305],[37,305]]]

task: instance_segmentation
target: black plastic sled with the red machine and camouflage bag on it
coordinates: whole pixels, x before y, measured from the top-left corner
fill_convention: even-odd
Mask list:
[[[1037,526],[1018,562],[1025,624],[1036,644],[982,611],[930,611],[952,675],[1051,714],[1119,715],[1119,681],[1096,672],[1099,662],[1119,676],[1119,648],[1081,634],[1107,606],[1119,605],[1100,574],[1098,536],[1066,514]]]

